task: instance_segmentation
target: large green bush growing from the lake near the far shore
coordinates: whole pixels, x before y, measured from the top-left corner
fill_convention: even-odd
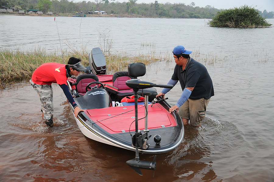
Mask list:
[[[214,27],[230,28],[266,28],[272,25],[266,22],[258,10],[248,5],[217,12],[216,16],[208,24]]]

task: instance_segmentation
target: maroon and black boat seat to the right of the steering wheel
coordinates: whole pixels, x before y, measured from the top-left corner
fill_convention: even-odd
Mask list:
[[[116,72],[112,76],[113,86],[118,90],[116,92],[116,96],[118,100],[121,100],[125,96],[134,95],[133,89],[126,85],[126,81],[130,80],[131,77],[128,76],[128,72]]]

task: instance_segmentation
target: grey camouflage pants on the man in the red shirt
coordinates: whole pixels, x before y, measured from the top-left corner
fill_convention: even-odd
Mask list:
[[[44,119],[49,120],[53,117],[53,91],[51,85],[38,85],[33,83],[31,79],[30,84],[40,97]]]

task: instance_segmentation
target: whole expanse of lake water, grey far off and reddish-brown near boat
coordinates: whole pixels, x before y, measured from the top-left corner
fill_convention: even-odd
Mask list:
[[[58,33],[63,49],[70,42],[91,50],[100,45],[98,32],[104,30],[113,53],[171,57],[173,47],[182,44],[206,65],[215,96],[202,127],[185,127],[181,145],[157,155],[153,177],[153,171],[142,170],[139,176],[126,165],[135,152],[93,141],[79,130],[66,133],[77,124],[59,86],[53,86],[54,127],[49,128],[37,93],[27,81],[18,83],[0,91],[0,181],[273,182],[274,27],[213,28],[207,21],[56,17],[54,22],[54,17],[1,15],[0,47],[11,50],[60,51]],[[274,19],[268,21],[274,24]],[[147,65],[142,79],[167,83],[174,65]],[[180,95],[179,84],[166,94],[170,104]],[[140,155],[141,160],[153,157]]]

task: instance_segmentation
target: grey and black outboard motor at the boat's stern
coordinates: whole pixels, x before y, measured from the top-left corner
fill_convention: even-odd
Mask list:
[[[95,75],[105,75],[107,71],[106,59],[99,47],[95,47],[89,54],[89,63]]]

